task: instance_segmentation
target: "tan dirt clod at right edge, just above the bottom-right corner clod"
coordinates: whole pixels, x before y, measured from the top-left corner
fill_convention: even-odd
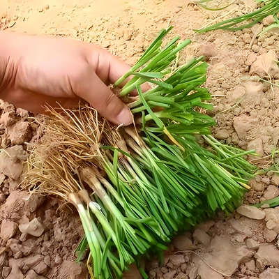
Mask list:
[[[259,246],[255,258],[266,266],[279,268],[279,250],[271,243]]]

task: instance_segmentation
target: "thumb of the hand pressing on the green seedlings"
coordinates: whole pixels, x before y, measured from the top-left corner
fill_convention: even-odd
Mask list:
[[[91,71],[90,71],[91,72]],[[83,77],[77,95],[89,102],[101,116],[115,125],[133,123],[129,108],[103,83],[94,71]]]

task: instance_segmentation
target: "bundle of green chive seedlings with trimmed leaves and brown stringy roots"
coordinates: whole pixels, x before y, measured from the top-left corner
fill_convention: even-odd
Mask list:
[[[89,246],[92,278],[121,278],[150,248],[166,249],[172,236],[217,209],[233,211],[255,170],[243,159],[251,151],[220,144],[210,135],[215,122],[199,112],[211,109],[202,57],[169,70],[190,43],[177,36],[163,47],[171,29],[114,84],[133,76],[119,96],[128,96],[134,126],[112,127],[89,105],[49,108],[45,135],[29,146],[24,183],[76,206],[85,232],[77,250]],[[155,87],[142,93],[144,82]],[[133,89],[137,97],[129,96]]]

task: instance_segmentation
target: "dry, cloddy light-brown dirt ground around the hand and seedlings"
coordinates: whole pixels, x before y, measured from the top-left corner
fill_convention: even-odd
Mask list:
[[[228,2],[213,0],[210,5]],[[206,86],[214,104],[209,113],[218,123],[213,134],[228,144],[256,149],[260,157],[249,159],[267,166],[279,140],[279,40],[276,31],[257,33],[272,19],[234,33],[193,31],[255,6],[253,0],[236,0],[213,12],[188,0],[0,0],[0,30],[70,36],[97,43],[133,64],[160,29],[173,25],[173,36],[193,41],[181,52],[181,63],[194,55],[205,55],[209,62]],[[27,112],[0,103],[0,278],[85,279],[86,265],[73,262],[82,236],[78,217],[65,206],[59,210],[54,197],[29,197],[16,190],[24,172],[24,142],[39,133]],[[246,203],[278,196],[278,184],[273,172],[257,176],[250,181]],[[276,279],[278,234],[279,207],[243,206],[231,218],[220,213],[176,236],[163,267],[154,260],[146,269],[149,278]]]

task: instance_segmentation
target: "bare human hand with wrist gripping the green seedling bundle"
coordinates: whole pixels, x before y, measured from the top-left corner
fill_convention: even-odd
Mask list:
[[[82,98],[112,123],[128,125],[130,110],[107,85],[129,68],[90,43],[0,31],[0,98],[33,113],[56,102],[77,107]]]

